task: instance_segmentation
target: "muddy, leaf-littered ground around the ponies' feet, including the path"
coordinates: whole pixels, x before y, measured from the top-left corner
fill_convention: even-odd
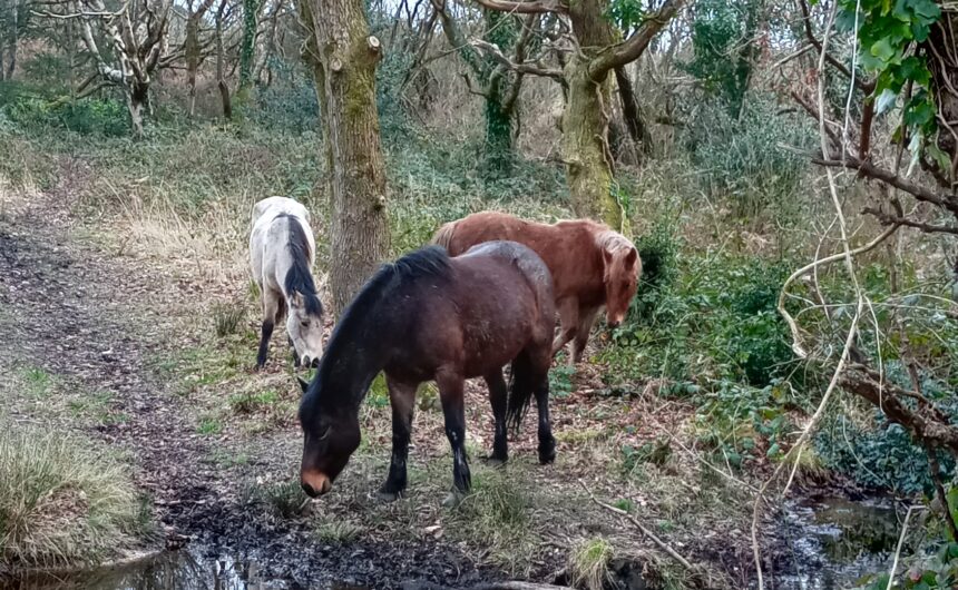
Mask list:
[[[587,488],[706,564],[707,586],[746,584],[749,490],[691,450],[694,410],[657,397],[654,383],[630,396],[600,395],[588,365],[573,391],[554,396],[554,465],[536,463],[531,419],[510,443],[505,471],[482,464],[491,419],[473,383],[475,496],[458,509],[440,505],[451,463],[441,412],[426,395],[410,489],[380,503],[372,492],[387,472],[390,417],[373,397],[361,416],[363,445],[333,492],[302,502],[299,387],[285,346],[274,345],[265,372],[252,371],[256,302],[242,265],[212,273],[209,260],[157,256],[121,223],[81,215],[70,195],[70,186],[30,194],[0,187],[0,405],[13,421],[81,431],[128,453],[159,523],[150,543],[253,560],[263,580],[293,586],[393,588],[408,580],[549,582],[570,548],[602,537],[648,576],[684,576],[593,503]],[[216,335],[216,305],[243,309],[235,334]],[[669,455],[623,461],[624,445],[646,442]]]

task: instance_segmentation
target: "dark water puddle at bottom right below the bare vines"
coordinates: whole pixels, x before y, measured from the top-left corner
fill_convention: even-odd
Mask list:
[[[844,590],[891,566],[901,521],[881,500],[840,498],[790,502],[784,529],[791,559],[775,572],[779,590]]]

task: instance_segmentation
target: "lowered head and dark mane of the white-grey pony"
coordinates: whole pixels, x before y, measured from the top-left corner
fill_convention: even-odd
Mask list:
[[[317,366],[323,356],[323,304],[310,273],[309,243],[299,223],[290,223],[292,264],[286,273],[289,312],[286,333],[304,366]]]

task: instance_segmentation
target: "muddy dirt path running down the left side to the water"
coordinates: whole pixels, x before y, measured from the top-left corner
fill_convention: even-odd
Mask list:
[[[176,338],[157,303],[183,295],[168,277],[78,239],[63,200],[35,195],[6,210],[0,203],[0,385],[6,375],[6,385],[16,386],[11,375],[39,367],[69,387],[108,392],[109,410],[125,420],[78,426],[69,416],[38,416],[16,403],[8,415],[84,427],[130,450],[136,481],[154,501],[167,544],[188,541],[208,555],[255,561],[265,580],[391,588],[405,580],[461,584],[501,577],[439,543],[324,544],[304,519],[272,518],[244,500],[235,469],[204,460],[211,442],[197,435],[188,402],[149,368],[149,357]]]

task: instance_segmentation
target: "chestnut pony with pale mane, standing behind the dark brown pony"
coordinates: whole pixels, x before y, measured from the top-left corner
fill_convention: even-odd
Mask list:
[[[569,363],[581,361],[598,312],[605,307],[608,325],[619,325],[642,276],[635,246],[608,226],[589,219],[539,224],[498,212],[473,213],[450,222],[436,233],[434,244],[456,256],[482,242],[509,239],[538,254],[553,274],[561,332],[553,353],[569,341]]]

